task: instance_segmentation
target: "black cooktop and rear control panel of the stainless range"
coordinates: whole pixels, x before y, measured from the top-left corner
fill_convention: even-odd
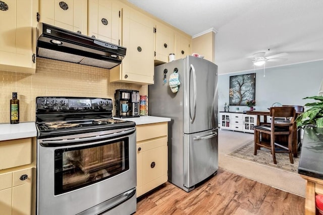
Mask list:
[[[112,107],[111,99],[37,97],[38,137],[135,127],[134,122],[113,119]]]

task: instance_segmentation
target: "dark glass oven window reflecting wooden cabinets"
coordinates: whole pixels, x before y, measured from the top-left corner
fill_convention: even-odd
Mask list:
[[[129,170],[128,138],[88,147],[55,150],[55,195]]]

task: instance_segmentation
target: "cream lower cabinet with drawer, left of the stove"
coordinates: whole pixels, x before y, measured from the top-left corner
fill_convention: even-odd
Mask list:
[[[0,214],[35,214],[36,140],[0,141]]]

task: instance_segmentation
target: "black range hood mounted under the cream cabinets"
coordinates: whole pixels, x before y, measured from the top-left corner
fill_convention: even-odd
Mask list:
[[[45,23],[37,25],[37,56],[102,68],[119,65],[126,48]]]

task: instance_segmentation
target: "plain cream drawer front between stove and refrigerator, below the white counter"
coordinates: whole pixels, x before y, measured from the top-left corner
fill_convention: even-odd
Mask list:
[[[167,125],[167,122],[137,125],[137,142],[145,139],[156,138],[159,136],[167,136]]]

